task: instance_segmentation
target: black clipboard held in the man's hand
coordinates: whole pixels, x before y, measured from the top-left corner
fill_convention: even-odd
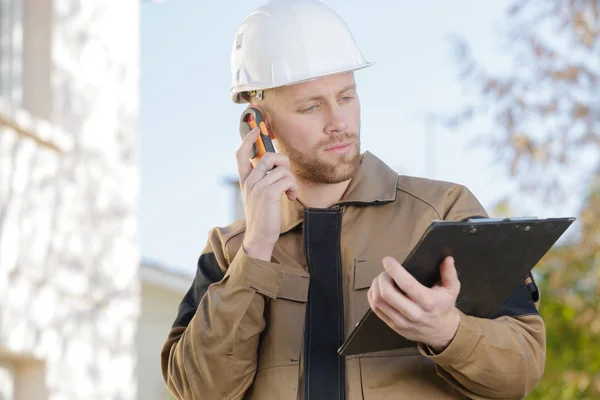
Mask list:
[[[456,307],[490,318],[575,218],[471,218],[433,221],[402,263],[421,284],[440,281],[439,265],[455,260],[461,290]],[[400,260],[399,260],[400,261]],[[414,347],[369,309],[338,349],[342,356]]]

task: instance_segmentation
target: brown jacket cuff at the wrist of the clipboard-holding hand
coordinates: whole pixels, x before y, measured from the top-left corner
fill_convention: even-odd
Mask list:
[[[454,338],[441,353],[435,353],[426,344],[419,343],[422,355],[439,365],[450,365],[461,362],[467,357],[481,337],[476,318],[469,317],[459,310],[460,322]]]

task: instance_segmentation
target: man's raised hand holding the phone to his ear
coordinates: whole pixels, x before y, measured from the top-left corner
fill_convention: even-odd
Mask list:
[[[243,246],[249,257],[270,262],[281,229],[281,196],[296,200],[298,184],[284,154],[266,153],[252,167],[250,152],[259,132],[246,135],[236,153],[246,217]]]

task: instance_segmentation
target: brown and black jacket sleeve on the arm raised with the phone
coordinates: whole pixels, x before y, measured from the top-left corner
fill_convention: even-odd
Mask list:
[[[161,369],[177,399],[241,399],[256,373],[263,311],[283,281],[279,265],[239,250],[229,262],[211,232],[194,282],[161,351]]]

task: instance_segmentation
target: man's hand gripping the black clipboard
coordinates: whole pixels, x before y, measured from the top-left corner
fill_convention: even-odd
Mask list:
[[[441,282],[432,288],[419,283],[392,257],[384,258],[383,266],[385,272],[373,280],[368,293],[375,314],[405,338],[424,343],[436,353],[443,351],[460,323],[455,306],[460,281],[454,259],[444,259]]]

